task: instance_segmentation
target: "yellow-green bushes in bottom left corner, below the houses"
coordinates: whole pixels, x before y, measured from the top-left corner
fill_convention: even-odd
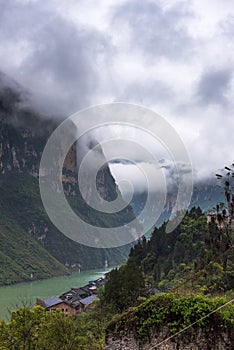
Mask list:
[[[76,318],[41,307],[12,312],[9,323],[0,323],[1,350],[102,350],[107,310],[96,307]]]

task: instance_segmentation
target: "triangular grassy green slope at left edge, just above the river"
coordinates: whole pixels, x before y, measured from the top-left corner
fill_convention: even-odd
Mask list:
[[[68,270],[13,220],[0,220],[0,285],[68,274]]]

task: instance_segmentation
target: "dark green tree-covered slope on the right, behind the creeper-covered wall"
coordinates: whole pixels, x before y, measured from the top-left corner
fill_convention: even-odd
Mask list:
[[[171,233],[166,223],[131,249],[126,265],[110,274],[103,305],[115,312],[135,306],[150,294],[231,294],[234,288],[233,233],[207,224],[200,208],[192,208]],[[218,236],[218,233],[220,237]],[[217,240],[215,237],[219,237]]]

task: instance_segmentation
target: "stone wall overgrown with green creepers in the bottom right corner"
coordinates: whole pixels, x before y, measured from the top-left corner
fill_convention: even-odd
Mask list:
[[[155,296],[111,322],[105,349],[232,350],[234,305],[220,309],[226,302],[199,296]]]

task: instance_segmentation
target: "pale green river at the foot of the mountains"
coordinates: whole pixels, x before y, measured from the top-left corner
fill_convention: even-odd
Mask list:
[[[42,281],[18,283],[0,287],[0,320],[9,320],[10,310],[22,305],[33,306],[36,298],[59,296],[71,287],[82,287],[90,280],[102,277],[110,268],[73,272],[70,276],[50,278]]]

